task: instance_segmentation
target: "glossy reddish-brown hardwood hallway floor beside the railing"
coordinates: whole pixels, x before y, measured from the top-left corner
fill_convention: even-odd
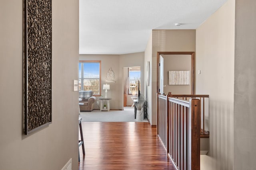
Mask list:
[[[176,169],[149,123],[82,122],[82,130],[80,170]]]

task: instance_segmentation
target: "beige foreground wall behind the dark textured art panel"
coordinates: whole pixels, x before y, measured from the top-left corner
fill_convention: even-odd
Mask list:
[[[0,2],[0,169],[60,170],[72,158],[77,170],[78,1],[52,1],[52,124],[30,135],[22,132],[22,5]]]

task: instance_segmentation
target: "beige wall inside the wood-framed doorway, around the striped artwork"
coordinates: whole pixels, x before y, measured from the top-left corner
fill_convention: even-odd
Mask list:
[[[164,58],[164,93],[191,94],[191,55],[162,55]],[[189,85],[168,85],[168,71],[190,71]]]

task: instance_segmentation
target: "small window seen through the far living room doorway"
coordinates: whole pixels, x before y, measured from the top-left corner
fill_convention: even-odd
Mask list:
[[[138,80],[140,80],[140,66],[129,67],[129,94],[138,94]]]

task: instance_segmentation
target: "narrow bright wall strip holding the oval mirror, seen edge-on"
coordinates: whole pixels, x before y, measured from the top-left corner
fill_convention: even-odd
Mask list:
[[[147,62],[149,61],[150,64],[150,81],[149,85],[146,86],[146,74],[147,74]],[[148,39],[148,43],[144,52],[144,94],[146,96],[146,100],[148,102],[148,120],[150,122],[150,125],[152,125],[152,32],[150,33],[150,37]]]

